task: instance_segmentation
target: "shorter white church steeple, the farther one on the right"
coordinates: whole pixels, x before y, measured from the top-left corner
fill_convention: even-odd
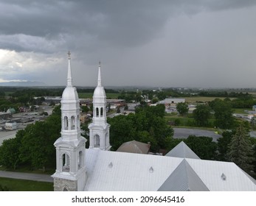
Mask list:
[[[97,87],[94,90],[93,96],[93,118],[89,124],[90,130],[90,148],[98,148],[109,150],[109,127],[106,114],[106,96],[105,90],[101,82],[100,62],[98,69]]]

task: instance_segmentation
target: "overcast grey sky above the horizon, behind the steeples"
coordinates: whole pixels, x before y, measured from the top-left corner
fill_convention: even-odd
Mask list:
[[[255,0],[0,0],[0,82],[256,88]]]

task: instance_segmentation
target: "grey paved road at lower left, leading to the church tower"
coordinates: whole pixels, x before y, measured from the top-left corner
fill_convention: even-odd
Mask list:
[[[0,171],[0,177],[7,177],[19,180],[33,180],[38,182],[53,182],[53,178],[48,174],[32,174],[14,171]]]

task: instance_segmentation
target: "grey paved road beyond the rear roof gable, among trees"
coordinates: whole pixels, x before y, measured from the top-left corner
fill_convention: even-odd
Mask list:
[[[221,138],[221,135],[215,134],[213,131],[204,130],[204,129],[187,129],[187,128],[173,128],[174,135],[173,138],[188,138],[189,135],[196,136],[206,136],[212,138],[212,141],[217,142],[218,138]]]

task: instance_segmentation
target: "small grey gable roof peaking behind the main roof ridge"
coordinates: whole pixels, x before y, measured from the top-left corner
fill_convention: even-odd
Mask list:
[[[165,154],[167,157],[181,157],[181,158],[191,158],[191,159],[198,159],[198,155],[193,152],[184,141],[181,141],[176,147],[174,147],[170,152]]]

